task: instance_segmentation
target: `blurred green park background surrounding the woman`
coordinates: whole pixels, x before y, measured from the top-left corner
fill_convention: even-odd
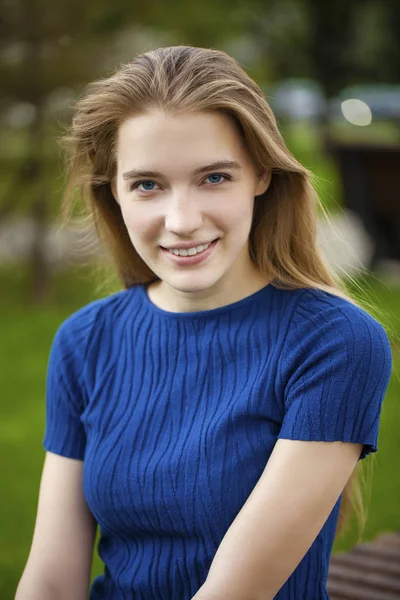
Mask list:
[[[318,239],[383,322],[394,372],[364,538],[400,528],[400,3],[396,0],[2,0],[0,11],[0,597],[13,598],[33,534],[53,335],[118,289],[79,222],[60,229],[58,139],[86,83],[135,54],[225,50],[262,87],[331,227]],[[100,273],[103,273],[101,271]],[[351,279],[350,279],[351,277]],[[334,552],[350,549],[352,527]],[[95,558],[93,577],[101,570]]]

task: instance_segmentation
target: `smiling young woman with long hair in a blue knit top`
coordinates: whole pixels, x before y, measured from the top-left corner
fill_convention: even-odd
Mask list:
[[[97,525],[91,600],[328,598],[391,351],[321,258],[307,170],[242,68],[186,46],[89,85],[69,142],[125,289],[54,338],[17,600],[86,598]]]

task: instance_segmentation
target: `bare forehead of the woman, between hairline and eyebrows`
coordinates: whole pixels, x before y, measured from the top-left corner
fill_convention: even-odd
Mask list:
[[[117,158],[121,168],[160,171],[163,165],[192,168],[218,160],[250,162],[238,125],[219,112],[152,111],[130,117],[119,127]]]

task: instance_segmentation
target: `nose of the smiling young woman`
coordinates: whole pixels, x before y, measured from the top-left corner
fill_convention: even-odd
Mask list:
[[[203,215],[197,202],[188,194],[171,196],[165,215],[165,228],[179,236],[189,237],[203,224]]]

